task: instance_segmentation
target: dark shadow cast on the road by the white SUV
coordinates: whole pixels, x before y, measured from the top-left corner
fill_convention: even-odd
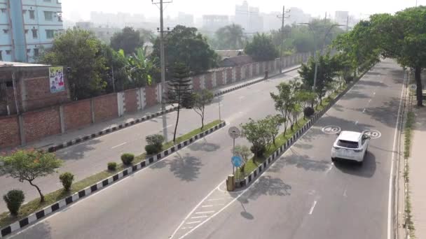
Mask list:
[[[355,175],[363,178],[371,178],[376,173],[376,157],[371,152],[367,152],[362,166],[351,161],[336,161],[334,166],[343,173]]]

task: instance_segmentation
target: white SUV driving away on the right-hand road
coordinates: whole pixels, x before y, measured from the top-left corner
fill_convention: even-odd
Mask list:
[[[362,164],[369,147],[370,138],[354,131],[342,131],[331,148],[331,161],[346,159]]]

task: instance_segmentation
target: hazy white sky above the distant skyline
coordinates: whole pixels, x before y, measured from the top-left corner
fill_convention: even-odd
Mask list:
[[[158,0],[159,1],[159,0]],[[169,0],[165,0],[169,1]],[[302,8],[312,16],[348,10],[358,18],[371,13],[394,13],[406,7],[415,6],[415,0],[249,0],[249,5],[259,7],[261,12],[280,11],[282,4],[287,7]],[[179,11],[196,17],[204,14],[233,15],[235,4],[242,0],[174,0],[165,9],[165,16],[177,15]],[[426,0],[418,0],[418,5],[426,5]],[[151,0],[62,0],[63,15],[68,20],[90,20],[91,11],[106,13],[142,13],[146,17],[158,17],[159,11]]]

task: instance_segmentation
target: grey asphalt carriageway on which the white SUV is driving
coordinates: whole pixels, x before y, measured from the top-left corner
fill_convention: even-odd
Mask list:
[[[388,238],[390,172],[404,73],[378,64],[224,211],[185,238]],[[363,166],[331,163],[336,134],[380,131]],[[179,236],[185,236],[185,234]],[[178,237],[177,237],[178,238]]]

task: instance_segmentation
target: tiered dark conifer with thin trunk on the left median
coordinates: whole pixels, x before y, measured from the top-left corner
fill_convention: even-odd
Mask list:
[[[188,78],[188,67],[182,63],[174,66],[174,78],[167,82],[167,103],[177,104],[176,125],[174,126],[173,143],[176,143],[177,125],[181,108],[189,108],[193,105],[191,80]]]

